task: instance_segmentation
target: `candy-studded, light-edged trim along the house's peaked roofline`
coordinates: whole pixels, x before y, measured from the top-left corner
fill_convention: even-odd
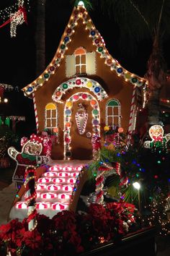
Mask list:
[[[78,25],[80,19],[83,20],[85,29],[89,31],[91,43],[96,46],[97,53],[101,58],[104,58],[104,63],[108,66],[109,69],[115,72],[117,76],[123,77],[125,81],[130,82],[132,85],[140,87],[142,85],[148,84],[148,81],[144,78],[138,77],[138,75],[128,72],[128,70],[124,69],[120,63],[109,54],[107,48],[105,47],[102,36],[99,34],[99,31],[91,21],[91,18],[89,17],[85,7],[78,5],[78,7],[73,8],[70,20],[68,21],[68,25],[66,26],[53,60],[35,81],[22,88],[24,95],[32,95],[32,93],[44,85],[45,82],[48,81],[49,78],[53,76],[53,74],[57,71],[58,67],[60,67],[61,61],[66,54],[69,43],[73,37],[73,33],[75,32],[76,26]]]

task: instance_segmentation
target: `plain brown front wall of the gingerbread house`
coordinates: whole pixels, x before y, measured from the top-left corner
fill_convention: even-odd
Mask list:
[[[68,43],[68,50],[66,55],[71,55],[78,47],[86,48],[86,52],[96,51],[96,46],[93,46],[89,33],[85,30],[82,20],[80,20],[79,26],[76,28],[76,32],[72,36],[71,43]],[[105,105],[111,98],[116,98],[120,101],[122,111],[122,127],[124,132],[128,130],[128,123],[130,117],[130,103],[133,95],[133,85],[130,82],[125,82],[122,77],[118,77],[115,71],[111,71],[109,67],[104,64],[104,59],[99,57],[96,52],[96,64],[97,72],[91,76],[85,76],[89,79],[96,80],[104,88],[109,95],[109,98],[104,101],[99,101],[99,107],[101,111],[101,134],[105,125]],[[71,77],[70,77],[71,79]],[[45,84],[35,92],[35,101],[37,103],[37,116],[39,121],[40,131],[45,127],[45,106],[47,103],[54,102],[52,95],[55,89],[61,85],[61,83],[69,80],[66,77],[66,56],[61,61],[61,66],[58,67],[55,74],[45,82]],[[67,91],[66,95],[63,95],[62,100],[66,101],[73,93],[84,91],[89,92],[86,88],[74,88]],[[91,92],[90,92],[91,93]],[[93,93],[91,93],[93,95]],[[95,95],[94,95],[95,97]],[[58,145],[53,145],[52,158],[63,159],[63,108],[64,104],[57,103],[58,106],[58,124],[59,124],[59,140]]]

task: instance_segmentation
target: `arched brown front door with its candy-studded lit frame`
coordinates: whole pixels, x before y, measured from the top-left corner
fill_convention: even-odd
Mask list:
[[[100,134],[99,103],[91,93],[71,95],[64,107],[64,159],[92,159],[91,136]]]

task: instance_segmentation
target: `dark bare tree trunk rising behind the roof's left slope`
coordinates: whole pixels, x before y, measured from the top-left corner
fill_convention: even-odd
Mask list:
[[[37,20],[35,29],[36,76],[45,70],[45,1],[37,0]]]

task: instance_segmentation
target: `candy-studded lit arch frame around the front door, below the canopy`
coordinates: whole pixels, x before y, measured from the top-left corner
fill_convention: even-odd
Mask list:
[[[100,121],[100,111],[99,111],[99,103],[97,102],[96,98],[89,93],[75,93],[73,94],[68,100],[66,101],[66,105],[64,108],[64,159],[69,159],[71,156],[71,115],[73,108],[73,103],[79,100],[90,101],[90,105],[93,108],[91,111],[92,119],[92,126],[94,135],[99,136],[100,129],[99,129],[99,121]]]

